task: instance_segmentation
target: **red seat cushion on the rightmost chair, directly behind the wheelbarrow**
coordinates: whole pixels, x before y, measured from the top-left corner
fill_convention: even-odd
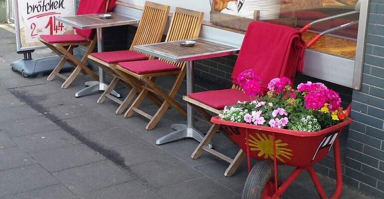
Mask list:
[[[191,93],[188,95],[188,97],[216,109],[224,109],[224,106],[236,104],[239,100],[250,100],[248,95],[237,89],[224,89]]]

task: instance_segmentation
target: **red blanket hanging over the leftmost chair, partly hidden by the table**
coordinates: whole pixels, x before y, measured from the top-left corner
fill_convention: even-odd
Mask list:
[[[76,15],[80,14],[96,14],[96,13],[104,13],[105,7],[107,5],[108,0],[80,0],[79,7],[77,8]],[[115,7],[116,0],[109,0],[108,10],[107,12],[112,11]],[[88,39],[93,39],[95,36],[95,29],[85,29],[81,30],[79,28],[75,28],[76,34],[81,35]]]

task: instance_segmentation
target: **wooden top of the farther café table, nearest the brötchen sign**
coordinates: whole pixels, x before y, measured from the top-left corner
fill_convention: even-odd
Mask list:
[[[110,12],[112,17],[109,19],[100,19],[100,14],[83,14],[69,17],[57,17],[56,20],[70,24],[79,29],[103,28],[118,25],[129,25],[139,23],[139,19],[123,16]]]

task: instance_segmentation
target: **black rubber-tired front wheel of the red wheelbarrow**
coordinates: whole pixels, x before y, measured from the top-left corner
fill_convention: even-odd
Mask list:
[[[273,162],[258,162],[248,174],[241,199],[271,199],[275,194],[274,173]],[[277,168],[278,187],[281,183],[280,170]]]

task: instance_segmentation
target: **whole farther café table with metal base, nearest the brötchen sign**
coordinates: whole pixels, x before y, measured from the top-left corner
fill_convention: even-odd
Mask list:
[[[100,14],[83,14],[83,15],[76,15],[76,16],[69,16],[69,17],[57,17],[56,20],[62,23],[72,25],[73,27],[76,27],[82,30],[96,28],[97,52],[103,52],[104,45],[103,45],[102,28],[139,23],[139,19],[137,18],[123,16],[114,12],[111,12],[108,14],[112,15],[111,18],[101,19],[99,18]],[[105,91],[108,88],[108,85],[105,84],[104,79],[105,79],[105,74],[103,70],[99,67],[99,81],[86,82],[85,86],[88,86],[88,87],[78,91],[75,94],[75,97],[81,97],[96,91]],[[115,91],[112,91],[111,94],[118,98],[120,97],[120,95]]]

